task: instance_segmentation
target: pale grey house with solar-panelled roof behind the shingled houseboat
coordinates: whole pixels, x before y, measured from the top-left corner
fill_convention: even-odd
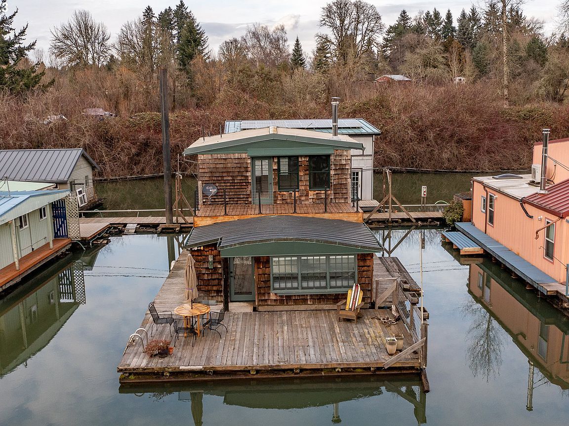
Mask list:
[[[351,149],[351,191],[360,198],[360,207],[372,210],[377,205],[373,201],[373,154],[374,138],[381,135],[381,131],[361,118],[337,119],[337,101],[333,104],[333,116],[336,119],[308,119],[308,120],[232,120],[225,122],[225,133],[240,132],[243,130],[269,128],[290,128],[298,130],[311,130],[351,137],[363,145],[363,149]],[[335,126],[336,124],[336,126]]]

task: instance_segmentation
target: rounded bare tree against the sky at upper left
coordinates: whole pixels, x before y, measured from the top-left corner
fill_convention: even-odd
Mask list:
[[[86,10],[76,10],[67,23],[51,31],[50,53],[63,65],[101,66],[109,59],[110,34]]]

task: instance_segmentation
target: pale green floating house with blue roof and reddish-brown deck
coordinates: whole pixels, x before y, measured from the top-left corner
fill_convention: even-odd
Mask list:
[[[69,190],[0,191],[0,291],[71,245]]]

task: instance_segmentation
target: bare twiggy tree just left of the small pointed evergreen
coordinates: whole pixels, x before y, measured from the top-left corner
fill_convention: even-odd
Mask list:
[[[290,52],[284,25],[278,25],[271,31],[266,25],[255,23],[247,27],[241,40],[257,68],[260,64],[276,66],[288,62]]]

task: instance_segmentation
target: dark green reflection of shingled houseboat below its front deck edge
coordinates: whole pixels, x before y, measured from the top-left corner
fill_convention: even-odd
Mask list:
[[[203,395],[223,398],[226,406],[269,410],[301,410],[311,407],[330,408],[331,423],[340,423],[342,406],[355,400],[369,399],[377,406],[377,398],[388,404],[393,398],[410,403],[417,424],[426,424],[426,399],[417,375],[362,375],[360,377],[319,377],[252,379],[242,381],[211,381],[195,383],[164,383],[164,385],[121,385],[119,393],[163,399],[178,393],[178,400],[191,404],[191,414],[196,425],[202,424],[203,412],[207,412]]]

